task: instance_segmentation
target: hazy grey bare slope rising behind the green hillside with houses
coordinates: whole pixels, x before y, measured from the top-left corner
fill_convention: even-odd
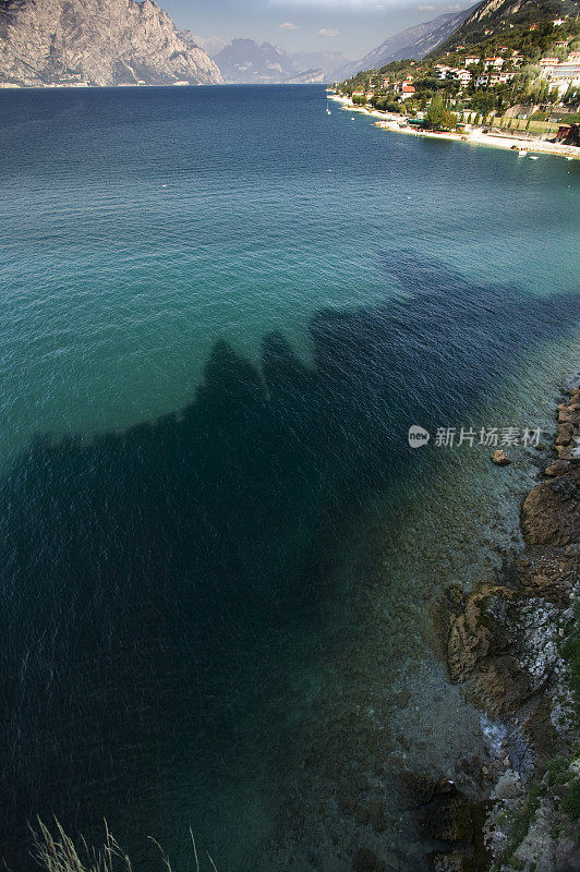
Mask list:
[[[493,2],[494,0],[491,0]],[[364,58],[352,63],[347,63],[335,70],[333,78],[340,81],[358,73],[360,70],[379,69],[391,61],[413,58],[421,60],[438,45],[444,43],[457,28],[479,8],[479,3],[470,9],[460,12],[449,12],[445,15],[437,15],[432,21],[408,27],[400,34],[389,36],[388,39],[370,51]]]

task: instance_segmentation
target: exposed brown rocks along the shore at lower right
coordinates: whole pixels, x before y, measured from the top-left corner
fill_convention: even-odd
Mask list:
[[[434,872],[580,869],[580,390],[557,409],[556,458],[525,497],[525,546],[503,578],[434,607],[451,682],[483,712],[480,796],[414,777]]]

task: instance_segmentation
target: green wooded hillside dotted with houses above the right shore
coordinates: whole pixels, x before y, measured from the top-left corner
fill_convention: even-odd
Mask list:
[[[580,49],[580,4],[561,0],[567,12],[555,19],[549,3],[522,0],[516,9],[500,0],[485,0],[452,37],[420,61],[407,58],[363,70],[340,83],[339,93],[357,95],[365,102],[364,95],[371,92],[374,106],[379,102],[396,111],[401,99],[407,108],[423,110],[443,92],[455,107],[490,111],[518,102],[553,105],[566,90],[573,114],[580,99],[573,66],[563,82],[567,87],[553,89],[549,71],[544,72],[540,60],[551,57],[558,63]],[[483,37],[471,41],[470,34],[475,39],[481,27]]]

